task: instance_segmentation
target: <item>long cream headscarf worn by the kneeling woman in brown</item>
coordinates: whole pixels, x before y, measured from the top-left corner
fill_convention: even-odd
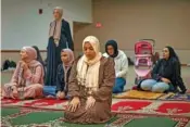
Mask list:
[[[86,42],[89,42],[92,46],[96,56],[93,60],[88,60],[88,58],[84,54],[79,59],[77,63],[77,79],[79,85],[89,88],[89,90],[96,91],[99,88],[99,68],[102,53],[100,52],[100,43],[97,37],[86,37],[83,42],[83,49]]]

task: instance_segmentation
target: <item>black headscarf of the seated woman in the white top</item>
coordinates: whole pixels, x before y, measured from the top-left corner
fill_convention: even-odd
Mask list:
[[[109,47],[109,46],[112,46],[112,47],[114,48],[114,54],[113,54],[113,55],[110,55],[109,52],[107,52],[107,47]],[[117,42],[116,42],[115,40],[109,40],[109,41],[106,41],[106,43],[105,43],[105,52],[106,52],[110,56],[112,56],[112,58],[117,56],[117,54],[118,54]]]

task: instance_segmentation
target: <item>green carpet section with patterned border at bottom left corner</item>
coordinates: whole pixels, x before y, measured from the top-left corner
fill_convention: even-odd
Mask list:
[[[2,109],[2,127],[105,127],[113,123],[117,117],[113,117],[104,124],[80,125],[64,123],[64,112],[39,110],[39,109]]]

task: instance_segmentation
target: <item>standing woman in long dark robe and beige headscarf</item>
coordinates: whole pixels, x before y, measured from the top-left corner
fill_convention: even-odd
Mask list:
[[[63,16],[63,9],[60,7],[53,10],[54,21],[50,23],[49,42],[47,53],[46,86],[55,86],[56,68],[62,63],[60,52],[62,49],[74,50],[69,24]]]

